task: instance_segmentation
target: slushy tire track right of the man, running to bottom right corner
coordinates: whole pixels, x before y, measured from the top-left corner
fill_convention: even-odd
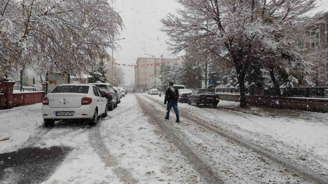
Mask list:
[[[153,102],[161,105],[162,107],[166,106],[162,103],[160,103],[158,100],[155,100],[149,96],[143,95],[144,97],[152,100]],[[140,98],[140,97],[138,97]],[[307,181],[311,181],[311,182],[315,182],[318,184],[328,184],[328,176],[327,175],[320,175],[317,172],[314,171],[309,171],[307,168],[304,168],[302,166],[293,164],[291,162],[289,162],[288,160],[285,160],[283,158],[281,158],[280,155],[277,155],[275,153],[273,153],[272,151],[268,150],[265,147],[259,146],[259,145],[255,145],[252,144],[252,142],[247,142],[245,140],[243,140],[240,136],[234,134],[231,131],[227,131],[224,128],[218,127],[216,125],[210,125],[209,123],[206,123],[206,120],[201,119],[195,115],[192,114],[188,114],[188,112],[186,110],[179,110],[180,112],[180,117],[183,117],[185,119],[188,119],[191,122],[194,122],[197,125],[200,125],[201,127],[210,130],[211,132],[215,132],[216,134],[218,134],[221,137],[224,137],[226,139],[228,139],[229,141],[235,142],[236,144],[243,146],[247,149],[252,150],[253,152],[261,155],[263,158],[270,160],[274,163],[279,164],[280,166],[282,166],[283,168],[285,168],[285,172],[290,173],[291,175],[297,175],[298,177],[305,179]]]

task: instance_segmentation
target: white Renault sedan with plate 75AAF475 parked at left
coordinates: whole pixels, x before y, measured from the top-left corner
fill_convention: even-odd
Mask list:
[[[107,116],[107,99],[91,84],[61,84],[42,99],[45,126],[62,119],[88,119],[97,124],[98,116]]]

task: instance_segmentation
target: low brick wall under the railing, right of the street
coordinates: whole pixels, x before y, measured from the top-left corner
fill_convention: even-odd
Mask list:
[[[239,102],[240,96],[233,94],[218,94],[221,100]],[[312,112],[328,112],[328,98],[291,98],[291,97],[271,97],[263,95],[247,95],[247,104],[257,107],[272,107],[279,109],[295,109]]]

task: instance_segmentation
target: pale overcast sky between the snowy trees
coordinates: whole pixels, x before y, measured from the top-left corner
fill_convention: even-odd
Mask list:
[[[328,0],[318,0],[322,4],[314,12],[328,11]],[[175,0],[116,0],[114,7],[123,19],[125,29],[121,32],[118,43],[121,49],[114,52],[117,63],[135,64],[138,57],[148,57],[150,54],[164,58],[175,58],[170,56],[165,40],[167,36],[159,31],[160,20],[169,12],[174,13],[179,5]],[[133,68],[123,67],[126,73],[126,84],[131,84]]]

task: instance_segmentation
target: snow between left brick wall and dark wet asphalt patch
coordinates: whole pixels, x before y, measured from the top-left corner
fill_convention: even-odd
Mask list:
[[[0,110],[0,153],[15,151],[30,137],[43,131],[41,103]]]

